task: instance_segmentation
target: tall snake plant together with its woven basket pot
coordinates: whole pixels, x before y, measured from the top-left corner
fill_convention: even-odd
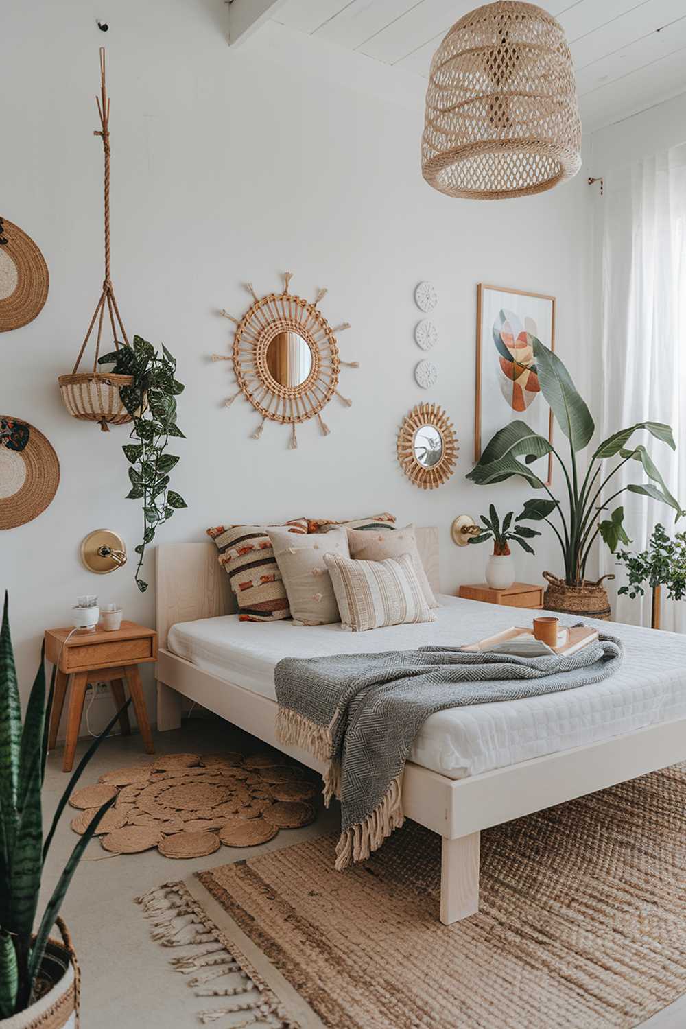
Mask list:
[[[41,789],[47,756],[48,717],[43,655],[22,724],[22,708],[7,617],[0,630],[0,1029],[70,1029],[76,1024],[78,977],[66,926],[58,918],[71,878],[100,819],[114,797],[96,812],[74,847],[42,918],[36,924],[45,857],[76,781],[117,720],[92,743],[71,776],[43,841]],[[127,702],[128,706],[130,701]],[[123,708],[122,708],[123,710]],[[57,923],[63,942],[49,938]]]

